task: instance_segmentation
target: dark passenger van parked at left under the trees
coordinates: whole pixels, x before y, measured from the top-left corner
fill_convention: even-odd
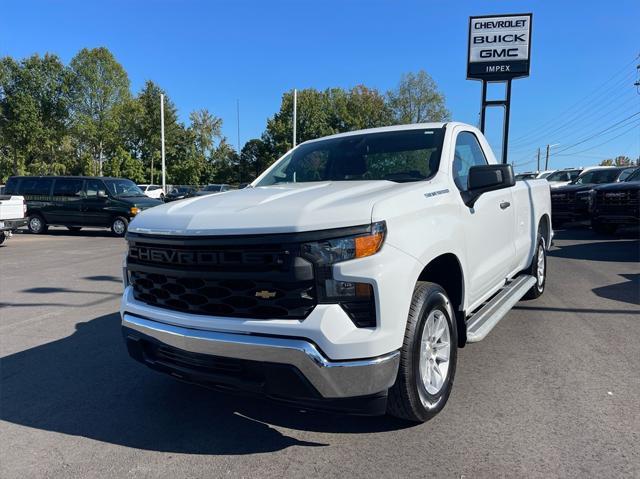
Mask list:
[[[162,204],[124,178],[12,176],[6,191],[24,196],[27,226],[36,234],[45,233],[49,225],[66,226],[71,231],[103,226],[116,236],[124,236],[135,215]]]

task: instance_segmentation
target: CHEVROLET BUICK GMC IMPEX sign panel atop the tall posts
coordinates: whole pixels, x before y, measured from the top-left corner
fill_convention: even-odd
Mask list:
[[[529,76],[531,16],[470,17],[467,78],[501,81]]]

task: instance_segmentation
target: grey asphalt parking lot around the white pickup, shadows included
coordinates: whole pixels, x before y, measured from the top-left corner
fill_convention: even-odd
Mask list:
[[[545,295],[459,354],[432,421],[331,416],[130,360],[122,239],[0,247],[0,476],[640,477],[640,234],[557,232]]]

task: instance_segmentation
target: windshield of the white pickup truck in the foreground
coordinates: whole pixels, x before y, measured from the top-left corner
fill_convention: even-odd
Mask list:
[[[365,133],[303,143],[256,186],[312,181],[420,181],[438,171],[444,128]]]

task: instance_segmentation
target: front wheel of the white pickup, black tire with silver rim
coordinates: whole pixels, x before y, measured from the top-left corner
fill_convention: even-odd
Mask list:
[[[442,327],[433,340],[433,332]],[[447,340],[448,346],[443,346]],[[440,412],[453,386],[457,348],[456,320],[447,294],[437,284],[418,283],[409,309],[398,376],[389,389],[387,413],[407,421],[425,422]],[[436,374],[435,370],[441,373]]]

